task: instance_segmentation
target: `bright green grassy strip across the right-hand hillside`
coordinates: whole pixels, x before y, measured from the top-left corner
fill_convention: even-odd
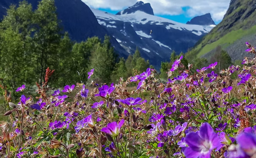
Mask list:
[[[212,51],[213,49],[215,49],[219,45],[226,44],[226,46],[229,46],[232,43],[234,43],[236,40],[239,40],[242,37],[244,37],[245,35],[250,35],[250,34],[255,33],[255,32],[256,32],[256,26],[253,26],[253,27],[251,27],[250,29],[247,29],[247,30],[238,29],[238,30],[229,32],[228,34],[221,37],[219,40],[217,40],[217,41],[215,41],[211,44],[207,44],[203,48],[201,48],[202,45],[200,44],[195,48],[197,50],[199,50],[201,48],[201,51],[199,51],[199,53],[197,54],[197,57],[200,57],[200,56],[208,53],[209,51]]]

